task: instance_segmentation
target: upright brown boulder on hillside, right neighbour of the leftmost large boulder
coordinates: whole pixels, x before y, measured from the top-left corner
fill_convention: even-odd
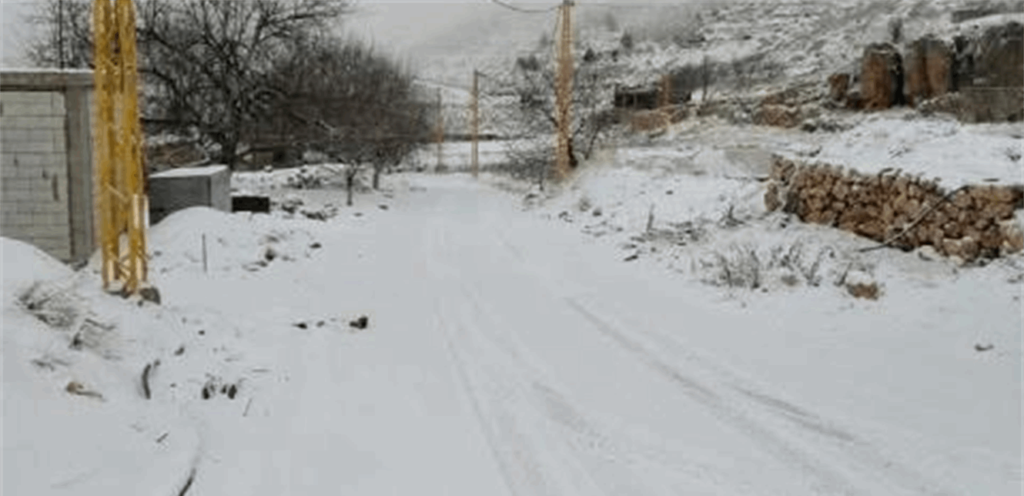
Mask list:
[[[914,41],[904,61],[903,95],[907,105],[916,106],[952,90],[953,52],[944,41],[934,36]]]

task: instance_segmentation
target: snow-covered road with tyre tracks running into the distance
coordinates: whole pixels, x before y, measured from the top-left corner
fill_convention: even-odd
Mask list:
[[[877,404],[844,412],[801,398],[799,383],[734,367],[741,355],[698,344],[709,333],[742,339],[777,327],[765,315],[708,306],[669,277],[609,263],[609,247],[471,181],[419,181],[426,192],[374,212],[361,231],[326,231],[300,270],[246,283],[245,303],[225,317],[242,328],[338,308],[362,308],[372,324],[355,334],[313,325],[254,334],[273,350],[265,361],[281,380],[257,383],[255,418],[211,427],[223,442],[207,445],[199,487],[899,495],[1014,486],[1012,448],[994,466],[949,477],[950,461],[930,453],[950,446],[930,444],[922,435],[931,432],[858,418],[898,406],[880,384],[850,391],[882,395]],[[185,297],[174,291],[169,299]],[[799,343],[777,348],[797,352],[764,353],[801,360]],[[787,366],[807,382],[842,376],[818,364]]]

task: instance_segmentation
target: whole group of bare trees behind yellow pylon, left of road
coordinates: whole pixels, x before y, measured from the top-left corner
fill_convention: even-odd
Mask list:
[[[89,68],[92,0],[41,0],[37,66]],[[307,149],[375,170],[429,133],[412,74],[332,34],[352,0],[136,0],[147,128],[198,133],[234,167],[246,153]]]

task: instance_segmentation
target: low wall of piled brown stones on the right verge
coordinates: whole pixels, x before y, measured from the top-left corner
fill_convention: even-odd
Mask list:
[[[932,245],[968,261],[1024,250],[1014,218],[1014,210],[1024,208],[1020,185],[946,192],[900,171],[869,175],[776,156],[765,206],[902,249]]]

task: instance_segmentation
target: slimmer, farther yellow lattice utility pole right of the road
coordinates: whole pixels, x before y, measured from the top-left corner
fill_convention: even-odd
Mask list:
[[[555,120],[558,123],[557,149],[555,153],[555,176],[568,176],[572,163],[572,2],[562,0],[559,8],[558,73],[555,88]]]

